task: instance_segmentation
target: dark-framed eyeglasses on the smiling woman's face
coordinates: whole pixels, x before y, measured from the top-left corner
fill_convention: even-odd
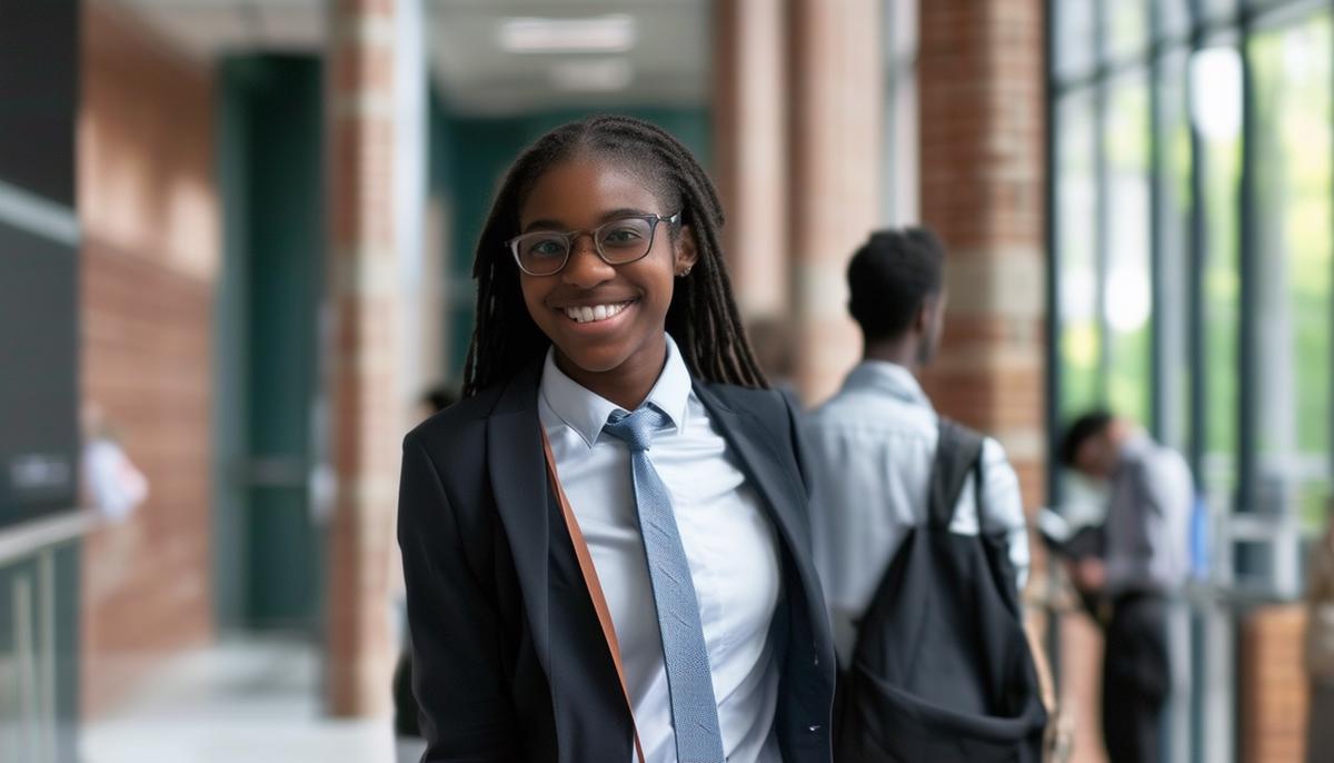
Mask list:
[[[530,276],[551,276],[564,269],[570,252],[579,236],[592,236],[592,248],[608,265],[624,265],[648,256],[654,248],[658,223],[675,225],[680,212],[670,217],[662,215],[632,215],[618,217],[591,231],[534,231],[506,241],[519,269]]]

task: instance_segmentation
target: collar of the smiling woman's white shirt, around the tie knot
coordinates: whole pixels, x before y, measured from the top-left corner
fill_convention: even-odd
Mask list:
[[[686,361],[668,333],[667,363],[644,403],[662,411],[671,420],[674,431],[680,432],[686,428],[686,416],[690,411],[691,384],[690,369],[686,368]],[[602,434],[611,414],[624,411],[611,400],[586,390],[558,368],[555,347],[547,349],[547,359],[542,367],[540,394],[551,411],[578,432],[590,448],[598,442],[598,435]]]

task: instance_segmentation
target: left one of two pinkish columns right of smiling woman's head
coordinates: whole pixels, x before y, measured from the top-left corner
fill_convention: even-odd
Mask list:
[[[747,316],[779,315],[788,303],[784,23],[772,0],[714,4],[714,181]]]

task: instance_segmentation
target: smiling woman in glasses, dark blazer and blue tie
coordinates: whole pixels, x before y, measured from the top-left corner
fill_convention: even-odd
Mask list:
[[[630,117],[502,183],[463,400],[404,439],[423,760],[830,760],[795,412],[720,225],[698,161]]]

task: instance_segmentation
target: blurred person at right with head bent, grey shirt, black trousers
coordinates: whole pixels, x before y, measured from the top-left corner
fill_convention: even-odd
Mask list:
[[[1117,763],[1158,760],[1162,711],[1171,690],[1169,599],[1189,572],[1195,503],[1181,454],[1107,411],[1067,430],[1062,464],[1107,494],[1099,554],[1067,562],[1071,582],[1105,614],[1102,732]]]

